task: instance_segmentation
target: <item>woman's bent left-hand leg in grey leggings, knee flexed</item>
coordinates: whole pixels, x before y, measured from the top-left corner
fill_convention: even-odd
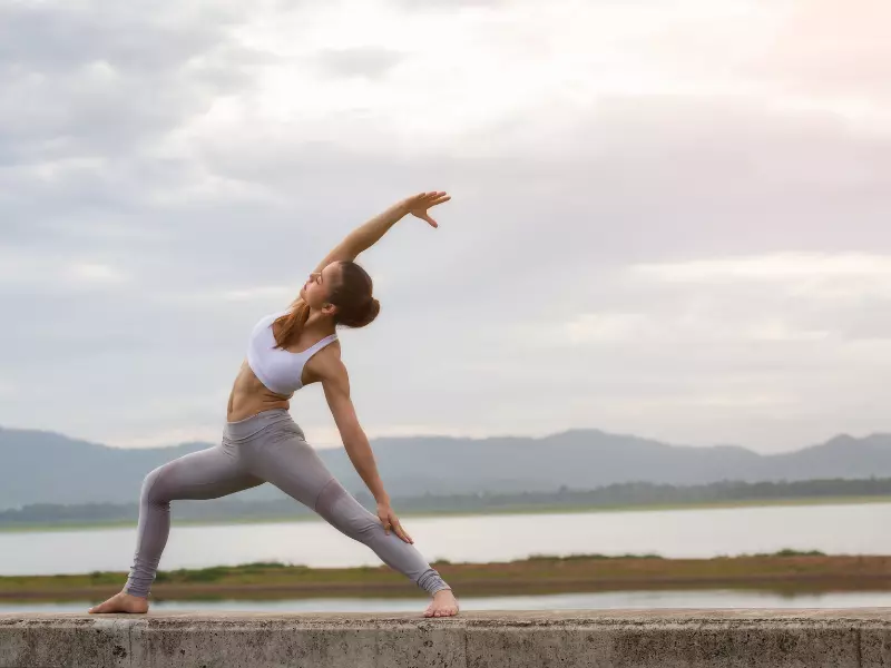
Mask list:
[[[133,568],[124,591],[148,597],[170,532],[170,501],[217,499],[263,484],[223,443],[158,466],[146,475],[139,498],[139,524]]]

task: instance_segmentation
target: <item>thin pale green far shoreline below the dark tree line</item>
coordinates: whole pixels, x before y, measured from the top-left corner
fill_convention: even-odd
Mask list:
[[[484,517],[506,514],[562,514],[588,512],[645,512],[660,510],[718,510],[733,508],[768,508],[790,505],[840,505],[863,503],[891,503],[891,495],[869,497],[803,497],[799,499],[746,499],[741,501],[708,501],[691,503],[657,503],[657,504],[624,504],[624,505],[515,505],[503,509],[487,509],[484,511],[442,510],[412,512],[410,509],[400,508],[395,502],[400,518],[449,518],[449,517]],[[206,519],[186,520],[174,518],[177,527],[214,527],[225,524],[270,524],[291,522],[322,521],[316,515],[270,517],[270,518],[234,518],[234,519]],[[120,520],[110,522],[59,522],[30,524],[0,525],[0,533],[13,532],[41,532],[41,531],[88,531],[92,529],[124,529],[134,528],[136,520]]]

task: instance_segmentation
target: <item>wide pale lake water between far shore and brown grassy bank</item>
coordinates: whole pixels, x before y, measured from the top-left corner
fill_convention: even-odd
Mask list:
[[[595,552],[707,558],[785,548],[891,554],[891,503],[405,518],[403,524],[429,561]],[[135,525],[0,532],[0,574],[126,571],[135,542]],[[252,561],[329,568],[380,564],[371,550],[322,521],[177,527],[174,519],[160,569]]]

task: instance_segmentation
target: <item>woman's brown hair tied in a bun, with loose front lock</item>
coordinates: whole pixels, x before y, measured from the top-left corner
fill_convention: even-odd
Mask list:
[[[381,303],[371,296],[372,282],[368,272],[354,262],[340,263],[341,276],[329,294],[327,301],[337,307],[334,324],[346,327],[364,327],[372,323],[381,312]],[[281,332],[275,337],[275,347],[285,348],[300,338],[303,326],[310,318],[310,305],[301,298],[292,303],[294,308],[277,317]]]

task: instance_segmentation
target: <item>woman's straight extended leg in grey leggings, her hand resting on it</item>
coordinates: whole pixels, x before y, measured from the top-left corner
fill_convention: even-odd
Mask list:
[[[358,540],[430,595],[450,589],[414,546],[394,532],[388,534],[369,512],[331,474],[303,432],[293,422],[276,426],[252,444],[251,472],[317,512],[335,529]]]

